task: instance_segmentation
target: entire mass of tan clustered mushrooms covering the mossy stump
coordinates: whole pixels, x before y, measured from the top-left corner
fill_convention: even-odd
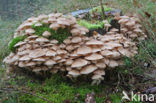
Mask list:
[[[89,30],[78,25],[72,16],[55,13],[29,18],[14,35],[26,35],[27,38],[14,46],[16,51],[10,53],[4,62],[9,72],[14,68],[26,68],[36,73],[65,71],[70,78],[91,75],[93,83],[100,83],[106,69],[122,65],[124,56],[137,54],[134,38],[145,38],[138,18],[116,16],[115,19],[121,24],[120,33],[113,28],[105,35],[87,37],[85,34]],[[72,36],[59,44],[58,40],[48,39],[53,35],[48,31],[44,31],[42,36],[35,35],[32,25],[37,27],[43,23],[55,31],[68,28]],[[110,26],[105,21],[105,27]]]

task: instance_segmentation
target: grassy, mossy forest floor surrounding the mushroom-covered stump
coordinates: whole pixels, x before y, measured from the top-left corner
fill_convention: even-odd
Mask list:
[[[43,11],[46,11],[45,13],[55,11],[57,6],[59,12],[67,13],[99,5],[98,0],[93,0],[94,2],[92,0],[80,1],[69,0],[60,4],[60,2],[54,0],[52,3],[45,5],[37,14],[43,13]],[[51,7],[54,4],[57,6]],[[88,93],[95,96],[97,103],[121,103],[123,90],[136,93],[155,87],[156,1],[105,0],[105,5],[121,9],[125,14],[138,14],[148,39],[139,43],[139,54],[134,58],[125,58],[123,67],[107,71],[106,79],[100,85],[94,86],[90,85],[88,80],[82,81],[79,78],[76,81],[71,81],[59,74],[49,78],[33,76],[28,72],[7,75],[2,60],[8,54],[7,44],[13,37],[11,33],[21,21],[1,21],[0,28],[3,30],[0,30],[0,103],[84,103]],[[144,102],[127,101],[125,103]]]

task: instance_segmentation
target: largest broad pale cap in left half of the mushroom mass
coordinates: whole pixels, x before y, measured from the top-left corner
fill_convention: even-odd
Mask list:
[[[45,50],[42,50],[42,49],[32,50],[29,53],[30,58],[38,58],[38,57],[45,56],[45,55],[46,55],[46,52]]]

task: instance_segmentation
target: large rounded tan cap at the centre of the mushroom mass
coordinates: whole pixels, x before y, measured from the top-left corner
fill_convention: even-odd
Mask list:
[[[77,54],[80,54],[80,55],[89,54],[91,52],[92,52],[92,49],[87,46],[82,46],[77,49]]]

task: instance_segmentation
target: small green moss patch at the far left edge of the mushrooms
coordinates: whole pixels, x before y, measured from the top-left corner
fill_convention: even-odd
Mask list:
[[[27,36],[17,36],[16,38],[13,38],[13,40],[9,43],[9,50],[11,51],[15,51],[15,45],[20,42],[20,41],[23,41]]]

